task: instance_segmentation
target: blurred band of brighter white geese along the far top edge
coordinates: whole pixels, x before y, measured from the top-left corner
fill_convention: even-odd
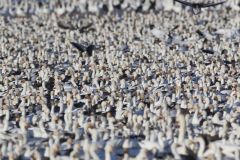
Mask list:
[[[180,5],[189,6],[195,14],[199,14],[202,8],[215,7],[225,3],[227,8],[239,11],[239,0],[225,0],[204,3],[197,0],[194,3],[183,0],[1,0],[0,15],[11,17],[26,17],[32,15],[91,13],[103,15],[119,10],[149,12],[150,10],[174,10],[180,11]]]

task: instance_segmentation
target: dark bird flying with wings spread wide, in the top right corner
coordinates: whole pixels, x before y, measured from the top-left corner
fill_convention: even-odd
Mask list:
[[[223,4],[223,3],[226,2],[226,1],[222,1],[222,2],[218,2],[218,3],[206,3],[206,4],[204,4],[204,3],[190,3],[190,2],[186,2],[186,1],[182,1],[182,0],[174,0],[174,1],[182,3],[186,6],[192,7],[192,11],[193,11],[194,14],[201,13],[201,8],[214,7],[214,6],[217,6],[217,5],[220,5],[220,4]]]

